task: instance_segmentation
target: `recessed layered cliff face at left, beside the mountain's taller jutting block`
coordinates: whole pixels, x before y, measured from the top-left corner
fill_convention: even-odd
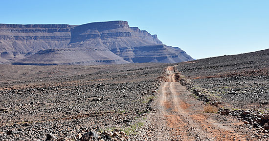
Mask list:
[[[0,24],[0,62],[11,63],[39,50],[67,46],[72,28],[66,24]]]

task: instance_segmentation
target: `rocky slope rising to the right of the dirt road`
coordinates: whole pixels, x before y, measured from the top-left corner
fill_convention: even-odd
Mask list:
[[[243,121],[243,127],[255,128],[261,137],[269,133],[268,66],[269,50],[263,50],[182,62],[176,69],[193,97]]]

